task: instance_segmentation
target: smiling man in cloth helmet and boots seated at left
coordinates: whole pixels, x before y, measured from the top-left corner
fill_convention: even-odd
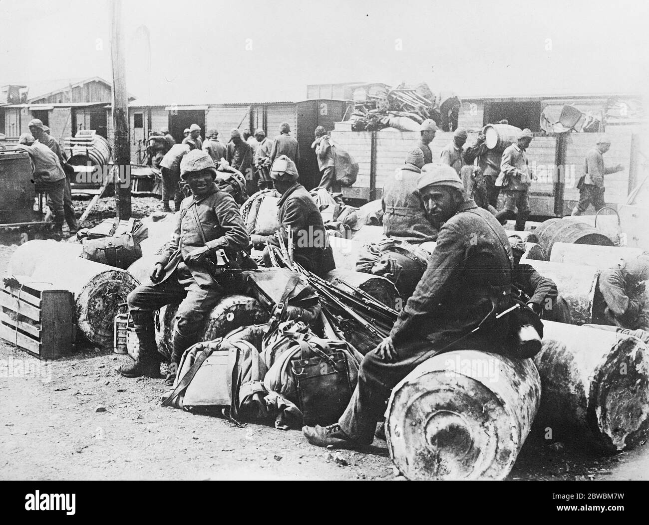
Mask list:
[[[182,201],[173,239],[156,262],[151,283],[138,286],[127,297],[140,356],[130,366],[117,368],[125,377],[160,375],[153,312],[182,299],[176,313],[171,373],[165,380],[165,386],[173,386],[182,354],[200,337],[205,316],[228,292],[224,281],[217,281],[210,271],[208,258],[224,250],[230,261],[238,261],[240,252],[249,246],[239,207],[232,196],[219,191],[216,176],[214,163],[205,152],[193,150],[182,157],[180,177],[192,195]]]

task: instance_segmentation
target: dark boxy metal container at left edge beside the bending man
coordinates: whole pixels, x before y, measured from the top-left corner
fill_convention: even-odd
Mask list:
[[[35,194],[32,178],[27,152],[0,152],[0,223],[31,222]]]

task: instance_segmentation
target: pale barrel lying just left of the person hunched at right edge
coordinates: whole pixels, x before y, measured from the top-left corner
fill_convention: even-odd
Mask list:
[[[600,276],[598,268],[533,259],[527,259],[525,263],[530,264],[539,274],[554,281],[559,295],[570,307],[572,324],[583,325],[593,320],[593,305]]]

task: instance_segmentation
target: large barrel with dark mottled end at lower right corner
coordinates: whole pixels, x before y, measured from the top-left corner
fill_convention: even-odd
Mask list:
[[[608,452],[649,434],[649,349],[633,336],[544,321],[534,362],[543,397],[537,423],[556,441]]]

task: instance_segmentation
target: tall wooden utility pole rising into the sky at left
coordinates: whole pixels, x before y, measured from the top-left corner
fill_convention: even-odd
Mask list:
[[[113,152],[115,167],[128,175],[130,169],[129,146],[129,95],[126,90],[125,56],[121,38],[121,0],[112,2],[112,25],[110,32],[110,54],[113,64]],[[114,177],[116,220],[130,218],[130,180],[126,177],[126,187],[122,187]]]

